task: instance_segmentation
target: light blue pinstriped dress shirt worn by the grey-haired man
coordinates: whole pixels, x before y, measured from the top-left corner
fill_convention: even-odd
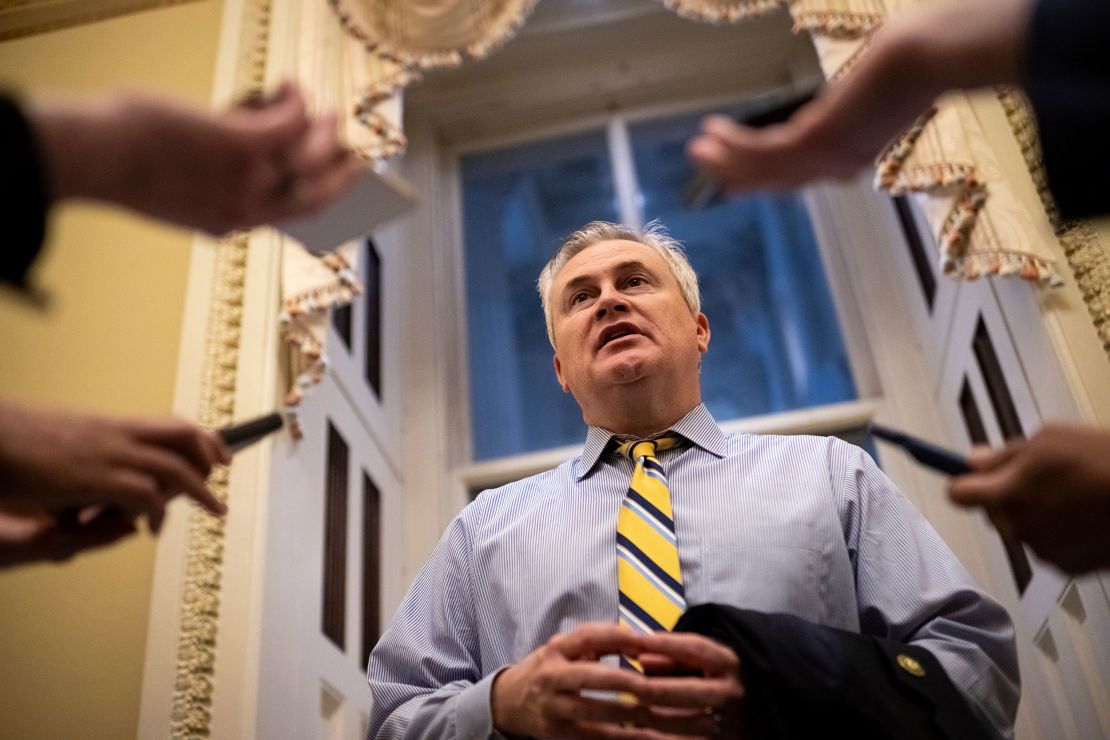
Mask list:
[[[725,435],[705,406],[662,452],[690,605],[911,642],[1005,733],[1013,628],[861,449]],[[557,632],[617,619],[616,520],[632,463],[591,427],[581,456],[486,490],[447,527],[370,658],[370,738],[487,738],[497,671]],[[741,657],[743,658],[743,657]]]

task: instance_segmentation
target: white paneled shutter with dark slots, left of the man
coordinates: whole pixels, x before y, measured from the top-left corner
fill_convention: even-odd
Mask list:
[[[384,595],[404,589],[393,260],[381,242],[359,260],[366,292],[333,316],[304,437],[271,458],[256,738],[365,736],[367,655],[393,609]]]

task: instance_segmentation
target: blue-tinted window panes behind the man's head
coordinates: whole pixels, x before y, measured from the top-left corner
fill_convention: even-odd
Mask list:
[[[535,281],[589,221],[659,219],[702,281],[713,341],[703,395],[718,420],[857,398],[808,213],[796,195],[689,212],[683,148],[703,113],[462,158],[475,460],[579,444],[582,412],[552,368]]]

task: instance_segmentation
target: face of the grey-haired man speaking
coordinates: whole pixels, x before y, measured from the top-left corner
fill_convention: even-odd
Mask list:
[[[709,322],[690,312],[656,250],[598,242],[555,275],[551,301],[555,374],[579,405],[652,375],[698,383]]]

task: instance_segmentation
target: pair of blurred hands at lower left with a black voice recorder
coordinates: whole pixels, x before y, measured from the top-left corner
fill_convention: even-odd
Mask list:
[[[271,414],[212,433],[189,422],[121,419],[0,403],[0,567],[67,559],[157,533],[179,493],[215,515],[205,480],[231,453],[281,428]]]

